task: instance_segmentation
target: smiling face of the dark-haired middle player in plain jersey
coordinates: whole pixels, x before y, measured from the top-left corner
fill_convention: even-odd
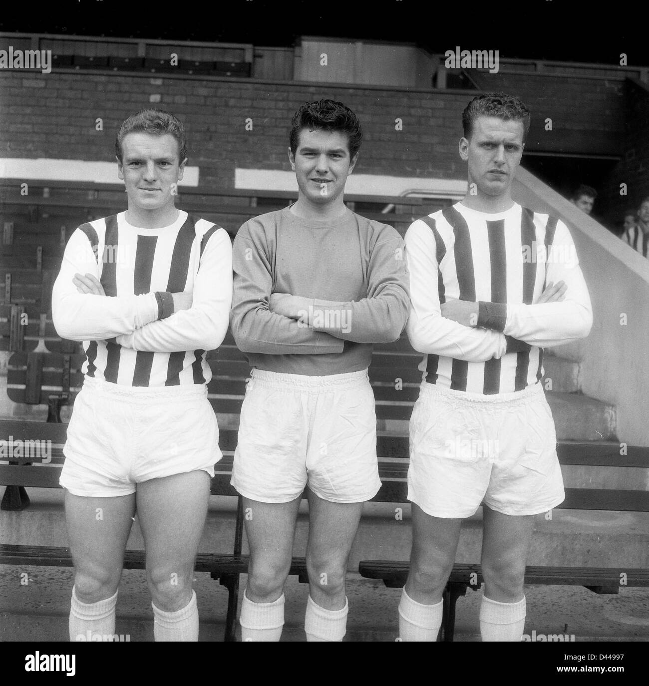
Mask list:
[[[303,196],[311,202],[325,204],[333,202],[344,191],[357,155],[350,159],[346,133],[303,128],[295,155],[289,150],[288,158]]]

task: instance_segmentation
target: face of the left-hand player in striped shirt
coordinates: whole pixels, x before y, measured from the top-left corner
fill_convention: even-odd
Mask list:
[[[141,210],[174,206],[185,162],[178,159],[178,141],[172,134],[154,136],[142,131],[126,134],[121,143],[119,178],[124,180],[128,202]]]

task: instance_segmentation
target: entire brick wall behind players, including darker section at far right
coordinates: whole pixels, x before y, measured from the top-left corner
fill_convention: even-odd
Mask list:
[[[564,76],[498,73],[480,78],[486,90],[510,91],[530,106],[528,150],[625,152],[619,173],[611,174],[608,185],[617,188],[622,180],[630,184],[631,178],[646,188],[644,91],[633,86],[637,92],[631,97],[624,95],[619,81]],[[302,102],[317,97],[340,99],[359,115],[366,137],[358,173],[464,178],[457,152],[460,115],[473,95],[62,71],[3,71],[0,93],[0,156],[112,161],[121,121],[140,108],[155,106],[185,121],[189,164],[200,167],[200,185],[212,189],[233,187],[235,167],[290,169],[290,117]],[[152,104],[150,95],[158,94],[160,102]],[[625,101],[633,103],[626,129]],[[245,130],[248,117],[252,131]],[[397,117],[403,119],[402,131],[394,128]],[[552,132],[544,130],[545,117],[552,118]],[[97,118],[103,119],[102,132],[95,130]],[[630,145],[626,151],[625,140]]]

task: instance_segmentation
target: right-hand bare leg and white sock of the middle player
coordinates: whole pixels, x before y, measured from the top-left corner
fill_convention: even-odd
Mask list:
[[[309,490],[307,641],[342,641],[347,623],[347,560],[363,503],[332,503]]]

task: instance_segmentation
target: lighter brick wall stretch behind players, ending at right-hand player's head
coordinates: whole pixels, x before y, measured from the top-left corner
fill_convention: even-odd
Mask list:
[[[290,117],[307,99],[333,97],[359,115],[366,137],[357,171],[462,178],[457,154],[462,93],[403,93],[364,88],[182,80],[91,73],[0,75],[0,156],[112,161],[117,128],[147,106],[185,122],[189,164],[200,184],[228,188],[235,167],[290,169]],[[160,94],[157,104],[150,95]],[[252,131],[245,130],[252,119]],[[403,119],[403,130],[394,120]],[[95,119],[104,130],[95,130]]]

